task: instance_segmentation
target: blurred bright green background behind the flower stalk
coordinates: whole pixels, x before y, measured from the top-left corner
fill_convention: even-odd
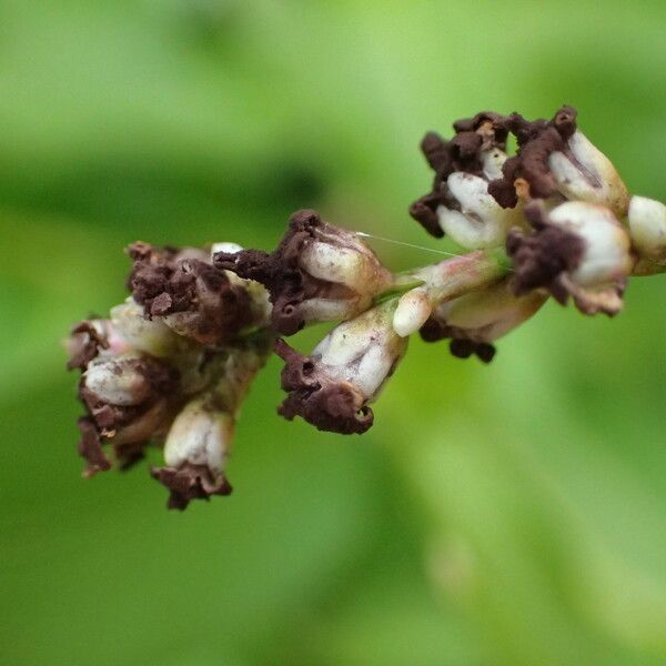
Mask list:
[[[406,214],[417,144],[482,109],[574,104],[666,199],[665,26],[662,0],[2,0],[0,662],[665,664],[664,278],[616,320],[548,304],[488,367],[414,340],[363,437],[280,420],[272,361],[233,496],[184,514],[145,467],[81,480],[59,346],[137,239],[271,248],[314,206],[441,248]]]

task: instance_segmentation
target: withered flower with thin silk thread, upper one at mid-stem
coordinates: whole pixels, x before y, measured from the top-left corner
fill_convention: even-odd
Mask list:
[[[357,234],[323,222],[310,210],[291,216],[274,252],[221,252],[214,261],[215,266],[268,289],[272,325],[283,335],[310,322],[350,320],[393,282]]]

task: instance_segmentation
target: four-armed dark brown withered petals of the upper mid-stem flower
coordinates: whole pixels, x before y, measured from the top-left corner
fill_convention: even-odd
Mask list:
[[[316,230],[325,225],[315,211],[297,211],[290,218],[280,244],[270,254],[260,250],[241,250],[236,253],[218,252],[214,256],[218,269],[233,271],[240,278],[261,282],[266,287],[273,304],[272,325],[282,335],[293,335],[305,325],[300,309],[303,301],[322,292],[332,296],[332,287],[340,299],[352,295],[344,285],[313,278],[299,265],[299,255],[304,246],[315,240]]]

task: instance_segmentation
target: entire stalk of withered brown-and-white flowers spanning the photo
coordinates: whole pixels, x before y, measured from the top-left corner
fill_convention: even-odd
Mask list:
[[[363,433],[412,334],[488,363],[494,342],[549,296],[614,315],[629,276],[666,272],[666,206],[628,194],[574,109],[536,121],[482,112],[453,129],[423,139],[435,175],[410,209],[461,248],[436,264],[393,273],[362,234],[311,210],[292,215],[270,253],[131,245],[131,295],[68,341],[69,367],[81,371],[84,475],[111,457],[128,468],[155,445],[164,464],[151,474],[169,507],[228,495],[241,404],[272,352],[284,361],[282,416]],[[283,340],[319,322],[336,325],[310,354]]]

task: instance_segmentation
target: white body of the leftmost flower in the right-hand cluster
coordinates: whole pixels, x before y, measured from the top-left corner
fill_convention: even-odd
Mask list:
[[[498,162],[491,163],[487,172],[496,173]],[[478,250],[503,245],[508,230],[522,224],[519,206],[503,209],[488,194],[488,182],[483,178],[456,171],[446,184],[456,208],[440,205],[437,215],[442,230],[462,248]]]

